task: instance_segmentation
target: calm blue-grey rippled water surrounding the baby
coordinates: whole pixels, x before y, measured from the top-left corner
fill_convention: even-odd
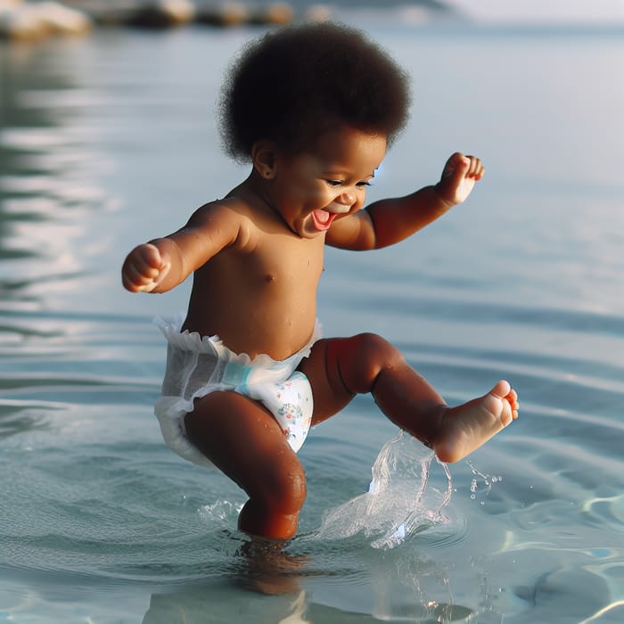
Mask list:
[[[456,149],[487,174],[398,247],[330,250],[325,333],[382,333],[450,403],[507,377],[521,419],[450,481],[415,442],[385,447],[388,513],[368,513],[398,431],[357,398],[300,452],[300,536],[250,554],[242,492],[152,416],[151,319],[188,285],[133,296],[119,267],[244,175],[212,107],[255,31],[1,44],[0,620],[624,619],[621,33],[362,25],[415,83],[371,198],[434,181]]]

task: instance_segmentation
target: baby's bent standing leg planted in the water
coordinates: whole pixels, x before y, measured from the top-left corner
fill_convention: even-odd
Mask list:
[[[234,392],[195,401],[185,419],[188,439],[250,497],[239,529],[265,538],[297,532],[306,499],[306,475],[267,409]]]

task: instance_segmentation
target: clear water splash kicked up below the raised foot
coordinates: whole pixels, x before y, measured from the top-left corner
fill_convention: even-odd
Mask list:
[[[451,497],[446,464],[436,458],[447,481],[440,492],[429,483],[435,454],[401,431],[382,447],[368,492],[324,514],[316,538],[343,539],[363,533],[374,548],[394,548],[406,538],[447,521],[442,509]]]

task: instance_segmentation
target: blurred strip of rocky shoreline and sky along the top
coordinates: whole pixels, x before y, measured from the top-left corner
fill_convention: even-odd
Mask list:
[[[47,37],[85,35],[96,28],[173,29],[286,25],[293,21],[401,23],[408,27],[469,24],[487,32],[560,30],[618,32],[624,29],[624,3],[570,0],[0,0],[0,41],[37,42]]]

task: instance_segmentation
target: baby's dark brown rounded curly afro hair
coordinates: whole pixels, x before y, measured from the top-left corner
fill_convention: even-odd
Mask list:
[[[341,126],[391,144],[410,103],[406,72],[379,45],[359,30],[316,23],[246,45],[226,75],[218,113],[225,151],[245,162],[259,140],[296,154]]]

